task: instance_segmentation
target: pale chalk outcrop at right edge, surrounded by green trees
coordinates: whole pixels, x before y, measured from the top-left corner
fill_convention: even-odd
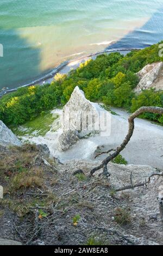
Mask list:
[[[142,90],[155,88],[156,90],[163,89],[163,62],[157,62],[146,65],[137,73],[140,78],[139,84],[135,88],[135,93],[140,93]]]

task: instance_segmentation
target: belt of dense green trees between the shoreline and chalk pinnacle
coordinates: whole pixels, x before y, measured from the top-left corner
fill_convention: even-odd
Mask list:
[[[134,50],[123,56],[120,53],[102,54],[87,60],[68,75],[56,75],[51,84],[20,88],[0,100],[0,120],[7,125],[19,125],[33,119],[42,111],[65,104],[73,89],[79,86],[87,99],[106,105],[123,107],[134,112],[141,106],[163,106],[163,93],[146,90],[135,95],[133,89],[139,82],[136,72],[148,63],[163,60],[159,45]],[[143,118],[159,121],[158,114],[143,114]]]

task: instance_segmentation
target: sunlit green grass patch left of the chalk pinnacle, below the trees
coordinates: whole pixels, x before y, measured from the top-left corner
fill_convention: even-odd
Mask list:
[[[51,129],[53,122],[58,118],[59,115],[54,117],[50,111],[42,112],[33,120],[27,121],[18,127],[10,127],[10,129],[17,136],[45,136],[46,133]]]

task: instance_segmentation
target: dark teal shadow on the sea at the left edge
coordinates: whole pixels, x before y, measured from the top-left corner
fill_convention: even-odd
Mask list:
[[[0,27],[0,43],[3,57],[0,58],[0,89],[22,86],[40,75],[40,49],[34,48],[14,29]]]

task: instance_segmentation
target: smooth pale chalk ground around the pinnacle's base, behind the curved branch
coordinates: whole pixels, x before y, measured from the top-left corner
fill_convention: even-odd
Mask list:
[[[62,130],[49,131],[45,137],[29,138],[30,142],[47,144],[51,154],[58,157],[60,161],[66,162],[71,159],[94,160],[97,147],[102,151],[116,148],[120,145],[128,132],[129,114],[122,109],[112,108],[118,115],[111,114],[111,132],[109,136],[95,135],[80,141],[66,152],[57,150],[58,137]],[[60,110],[55,110],[61,114]],[[26,137],[27,139],[27,137]],[[134,135],[128,143],[122,155],[129,164],[147,164],[149,166],[163,167],[163,127],[152,124],[149,121],[135,119]],[[97,161],[104,159],[105,155],[97,158]]]

